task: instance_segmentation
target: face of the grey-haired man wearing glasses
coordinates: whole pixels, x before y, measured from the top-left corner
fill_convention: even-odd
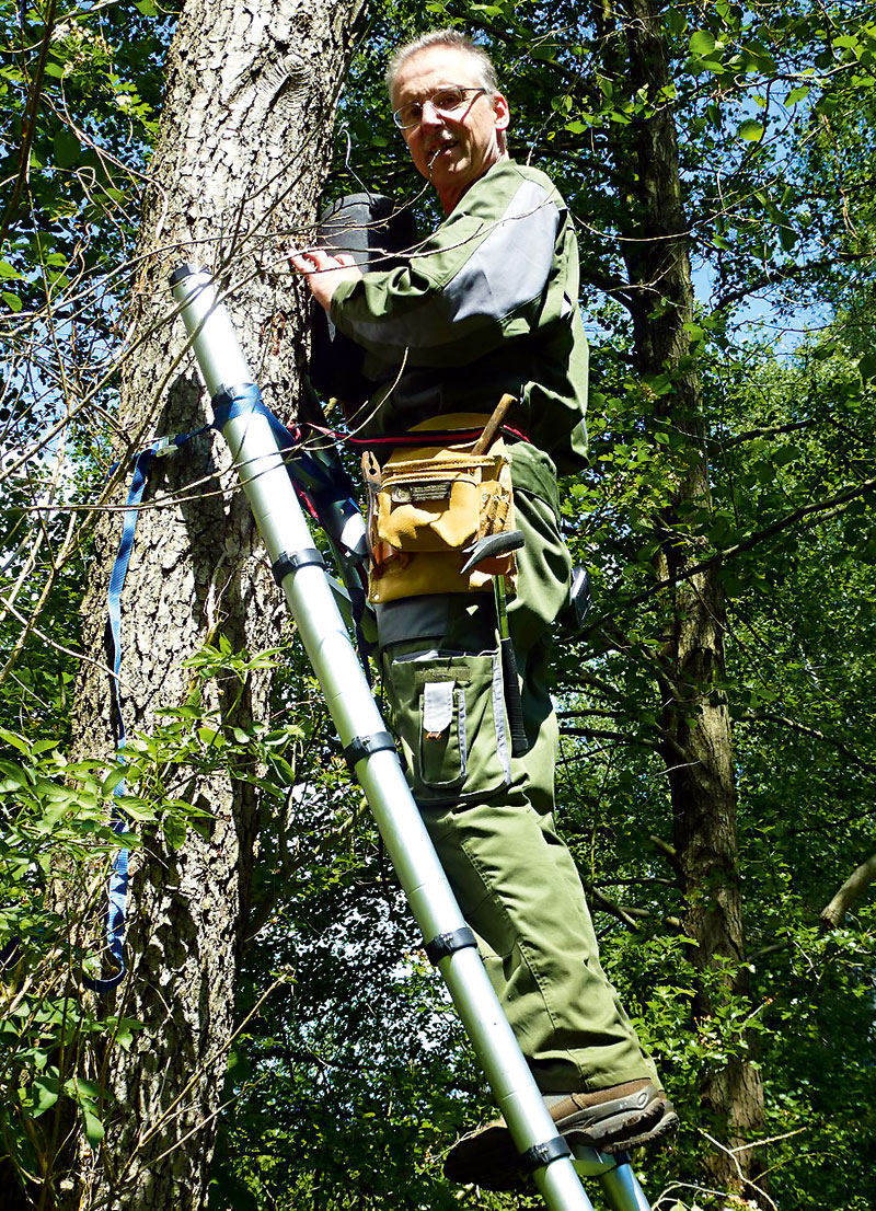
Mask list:
[[[429,46],[402,64],[393,88],[393,108],[428,102],[453,85],[480,87],[477,61],[452,46]],[[471,92],[453,114],[424,104],[422,121],[402,131],[417,170],[435,186],[446,214],[487,168],[504,159],[500,132],[506,128],[508,102],[502,93],[488,97]]]

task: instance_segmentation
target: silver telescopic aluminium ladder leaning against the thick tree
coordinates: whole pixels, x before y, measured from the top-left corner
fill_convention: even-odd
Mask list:
[[[172,274],[171,287],[211,401],[257,396],[252,372],[210,274],[182,265]],[[538,1190],[550,1211],[592,1211],[580,1172],[600,1178],[611,1211],[649,1211],[628,1157],[607,1157],[592,1148],[577,1148],[572,1154],[557,1136],[417,810],[269,419],[259,408],[246,406],[228,414],[223,437],[344,754],[365,791],[426,954],[447,985],[499,1113],[532,1169]],[[359,534],[348,535],[353,549],[365,540],[363,521],[361,515],[356,517],[357,522],[348,521],[360,527]]]

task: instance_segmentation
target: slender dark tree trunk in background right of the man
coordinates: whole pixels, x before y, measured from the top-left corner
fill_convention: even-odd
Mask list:
[[[694,939],[694,964],[703,971],[735,968],[743,957],[742,889],[737,846],[737,790],[733,741],[723,691],[725,599],[716,569],[686,576],[697,562],[695,540],[685,533],[692,509],[711,509],[709,465],[702,414],[702,381],[689,360],[683,325],[693,320],[693,286],[687,247],[687,220],[681,197],[679,148],[672,110],[660,90],[669,85],[660,17],[652,0],[623,0],[630,92],[645,88],[653,104],[634,117],[623,136],[618,168],[628,182],[631,239],[623,243],[634,304],[635,350],[646,378],[669,373],[672,390],[658,419],[687,441],[683,469],[671,505],[658,520],[662,541],[658,575],[672,584],[664,635],[659,684],[663,701],[663,757],[669,770],[674,845],[686,902],[685,931]],[[745,993],[744,976],[726,985]],[[710,1015],[704,986],[694,1003],[703,1023]],[[716,1138],[727,1147],[750,1140],[763,1125],[760,1074],[745,1060],[732,1058],[711,1069],[702,1089],[714,1114]],[[756,1176],[757,1158],[735,1159],[714,1150],[708,1181],[720,1189],[745,1193],[745,1177]],[[742,1178],[740,1178],[742,1173]]]

